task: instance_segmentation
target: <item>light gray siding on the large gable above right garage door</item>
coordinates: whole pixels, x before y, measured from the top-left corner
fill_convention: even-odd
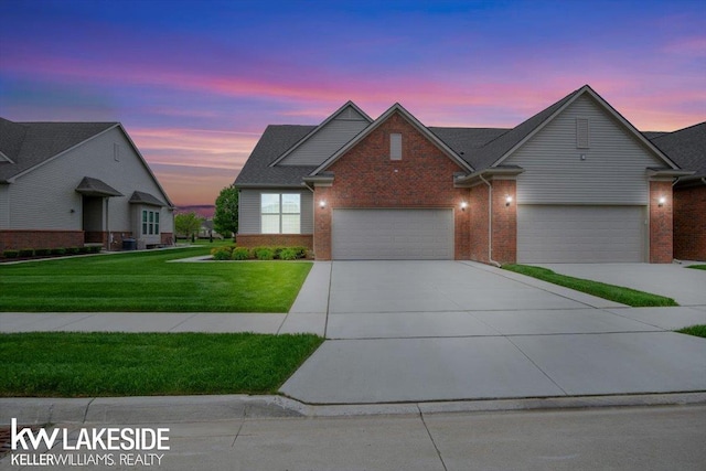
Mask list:
[[[588,148],[577,147],[578,118],[589,119]],[[517,178],[518,204],[646,204],[646,168],[663,167],[588,96],[579,97],[503,164],[525,169]]]

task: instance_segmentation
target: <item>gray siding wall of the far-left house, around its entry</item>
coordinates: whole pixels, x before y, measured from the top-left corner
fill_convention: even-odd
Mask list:
[[[120,158],[115,159],[115,144]],[[83,228],[82,195],[76,193],[84,176],[99,179],[124,194],[109,199],[108,229],[132,232],[131,205],[128,200],[136,190],[150,193],[164,203],[164,195],[135,153],[122,131],[111,129],[88,140],[69,152],[19,176],[9,184],[10,228],[64,229]],[[73,212],[72,212],[73,210]],[[160,232],[172,233],[173,214],[168,207],[160,212]]]

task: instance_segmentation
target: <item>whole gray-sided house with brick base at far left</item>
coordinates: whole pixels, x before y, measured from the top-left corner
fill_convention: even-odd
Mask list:
[[[0,251],[173,243],[173,205],[119,122],[0,118]]]

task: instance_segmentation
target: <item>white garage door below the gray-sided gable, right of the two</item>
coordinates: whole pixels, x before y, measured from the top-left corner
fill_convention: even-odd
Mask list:
[[[517,261],[645,260],[644,206],[517,207]]]

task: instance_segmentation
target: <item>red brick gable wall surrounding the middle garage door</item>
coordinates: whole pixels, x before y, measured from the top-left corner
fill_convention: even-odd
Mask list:
[[[402,133],[402,160],[389,159],[389,135]],[[463,171],[402,115],[393,114],[334,162],[333,185],[314,193],[314,251],[331,258],[331,216],[336,207],[453,208],[454,257],[469,258],[469,211],[461,211],[468,189],[453,188]],[[327,206],[319,207],[324,200]]]

